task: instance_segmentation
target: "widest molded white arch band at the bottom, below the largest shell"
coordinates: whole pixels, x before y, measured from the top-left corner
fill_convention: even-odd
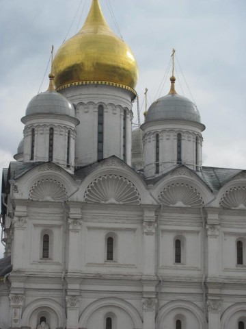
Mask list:
[[[131,317],[135,328],[141,329],[143,327],[143,320],[133,305],[124,300],[120,300],[120,298],[110,297],[100,298],[100,300],[96,300],[95,302],[92,302],[92,304],[88,305],[79,317],[79,327],[86,328],[87,321],[90,319],[92,314],[99,308],[105,306],[115,306],[117,308],[121,308],[129,315],[129,317]]]

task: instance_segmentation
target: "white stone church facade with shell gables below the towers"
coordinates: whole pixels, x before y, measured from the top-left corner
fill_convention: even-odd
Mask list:
[[[40,164],[14,186],[13,270],[0,284],[1,328],[34,329],[42,317],[49,328],[73,329],[106,328],[107,317],[118,329],[176,328],[177,319],[182,328],[238,329],[245,321],[245,259],[237,265],[236,254],[246,236],[243,174],[216,195],[187,167],[146,188],[111,157],[80,182]],[[189,193],[178,193],[184,186]],[[44,234],[49,258],[42,257]]]

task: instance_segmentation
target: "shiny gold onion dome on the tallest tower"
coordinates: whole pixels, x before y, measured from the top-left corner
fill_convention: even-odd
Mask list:
[[[92,0],[82,29],[58,49],[53,68],[57,90],[96,83],[135,93],[137,62],[131,49],[107,25],[98,0]]]

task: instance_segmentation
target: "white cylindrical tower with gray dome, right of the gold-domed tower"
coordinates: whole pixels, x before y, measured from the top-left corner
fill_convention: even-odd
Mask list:
[[[176,93],[171,77],[169,94],[152,103],[143,130],[144,174],[153,178],[185,164],[193,170],[202,167],[202,132],[200,113],[195,104]]]

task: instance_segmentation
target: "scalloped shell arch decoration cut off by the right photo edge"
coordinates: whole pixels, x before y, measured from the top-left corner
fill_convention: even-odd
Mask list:
[[[246,186],[236,186],[224,193],[219,202],[223,208],[246,209]]]

